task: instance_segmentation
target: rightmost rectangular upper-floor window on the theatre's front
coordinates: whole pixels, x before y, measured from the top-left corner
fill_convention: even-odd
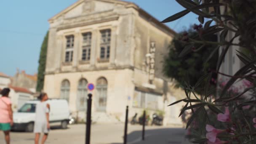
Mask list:
[[[110,56],[111,29],[101,31],[100,59],[108,60]]]

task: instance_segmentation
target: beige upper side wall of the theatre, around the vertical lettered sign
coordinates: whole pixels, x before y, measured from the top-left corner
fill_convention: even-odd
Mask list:
[[[149,53],[150,42],[155,42],[155,76],[163,78],[162,61],[164,56],[168,54],[168,46],[171,43],[173,35],[165,33],[158,27],[144,18],[137,15],[135,19],[135,67],[143,69],[143,62],[146,59],[146,54]]]

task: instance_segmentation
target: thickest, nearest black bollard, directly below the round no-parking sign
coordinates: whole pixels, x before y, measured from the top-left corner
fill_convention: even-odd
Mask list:
[[[91,93],[88,94],[87,99],[87,115],[86,115],[86,137],[85,144],[90,144],[90,136],[91,136],[91,97],[93,95]]]

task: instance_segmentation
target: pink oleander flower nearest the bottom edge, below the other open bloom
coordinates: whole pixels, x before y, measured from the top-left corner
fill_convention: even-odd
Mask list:
[[[208,139],[209,142],[212,142],[213,144],[215,144],[216,140],[217,140],[217,135],[219,133],[222,133],[224,130],[220,130],[220,129],[216,129],[214,128],[212,125],[206,125],[206,139]]]

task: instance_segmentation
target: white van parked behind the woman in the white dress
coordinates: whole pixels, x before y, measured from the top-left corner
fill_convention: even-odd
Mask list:
[[[12,130],[32,132],[35,122],[35,109],[39,100],[27,101],[18,110],[13,113]],[[60,125],[61,128],[67,128],[69,123],[69,107],[67,100],[64,99],[49,99],[50,104],[49,121],[50,125]]]

